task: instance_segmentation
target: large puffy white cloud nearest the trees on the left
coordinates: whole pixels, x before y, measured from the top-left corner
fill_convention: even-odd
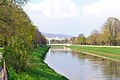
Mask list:
[[[28,4],[29,13],[39,13],[40,16],[54,19],[75,18],[80,9],[71,0],[43,0],[40,3]]]

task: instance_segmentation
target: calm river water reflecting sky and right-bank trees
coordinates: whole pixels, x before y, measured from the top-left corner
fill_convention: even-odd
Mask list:
[[[119,62],[67,48],[51,48],[44,62],[69,80],[120,80]]]

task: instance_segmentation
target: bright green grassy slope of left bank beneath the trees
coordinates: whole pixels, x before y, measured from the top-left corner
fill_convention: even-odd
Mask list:
[[[12,69],[9,70],[9,80],[67,80],[57,74],[43,62],[44,56],[49,47],[38,47],[29,55],[29,67],[22,73],[16,74]]]

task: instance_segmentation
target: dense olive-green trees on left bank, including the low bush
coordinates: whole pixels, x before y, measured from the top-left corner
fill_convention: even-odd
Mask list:
[[[7,68],[21,72],[27,67],[28,55],[38,45],[46,44],[45,37],[31,22],[22,6],[28,0],[0,1],[0,46]]]

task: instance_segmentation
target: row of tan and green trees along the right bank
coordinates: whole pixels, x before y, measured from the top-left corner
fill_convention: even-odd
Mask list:
[[[77,45],[120,45],[120,21],[117,18],[109,17],[102,25],[101,30],[93,30],[88,37],[80,34],[71,38],[72,44]]]

